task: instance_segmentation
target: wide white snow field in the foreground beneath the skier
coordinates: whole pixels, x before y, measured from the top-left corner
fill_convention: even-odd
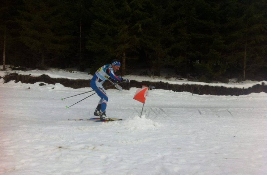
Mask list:
[[[123,120],[101,123],[67,120],[95,117],[97,95],[68,109],[66,105],[91,93],[61,101],[61,97],[91,88],[72,89],[58,83],[39,86],[40,83],[3,84],[0,79],[0,174],[267,172],[264,92],[213,96],[150,90],[140,118],[143,104],[133,99],[137,88],[122,92],[109,89],[106,114]]]

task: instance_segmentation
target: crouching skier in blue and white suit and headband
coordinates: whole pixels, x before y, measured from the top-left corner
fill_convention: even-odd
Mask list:
[[[118,60],[112,61],[110,65],[104,65],[99,68],[91,80],[91,88],[95,90],[97,95],[101,98],[94,112],[95,116],[100,116],[100,120],[109,119],[109,117],[106,116],[106,107],[109,99],[102,84],[107,79],[113,82],[129,82],[128,79],[124,79],[114,74],[114,72],[117,72],[120,69],[120,66],[121,63]]]

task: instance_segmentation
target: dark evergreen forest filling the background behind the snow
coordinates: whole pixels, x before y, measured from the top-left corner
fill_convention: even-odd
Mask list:
[[[0,65],[267,79],[266,0],[5,0]],[[3,68],[5,69],[5,67]]]

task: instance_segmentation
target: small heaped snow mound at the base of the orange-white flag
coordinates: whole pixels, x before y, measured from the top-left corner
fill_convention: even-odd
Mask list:
[[[139,116],[134,116],[133,118],[129,118],[121,123],[121,127],[128,130],[156,129],[161,126],[162,125],[160,123],[145,118],[145,115],[142,115],[141,118]]]

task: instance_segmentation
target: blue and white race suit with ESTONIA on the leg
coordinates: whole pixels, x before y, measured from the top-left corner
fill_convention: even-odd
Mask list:
[[[96,91],[97,95],[101,98],[98,105],[101,104],[102,113],[106,111],[107,102],[109,100],[106,90],[103,88],[103,83],[107,80],[123,81],[122,77],[114,74],[114,70],[111,65],[104,65],[97,70],[91,80],[91,88]]]

